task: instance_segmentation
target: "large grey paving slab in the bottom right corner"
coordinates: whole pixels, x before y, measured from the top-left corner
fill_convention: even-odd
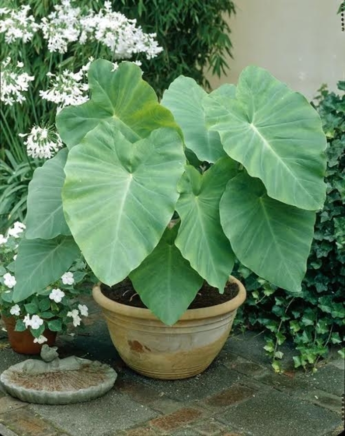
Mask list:
[[[269,395],[259,392],[215,418],[253,436],[321,436],[341,424],[337,413],[275,389]]]

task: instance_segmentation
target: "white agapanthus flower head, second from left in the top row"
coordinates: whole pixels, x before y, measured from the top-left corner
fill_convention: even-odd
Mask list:
[[[54,6],[54,11],[42,18],[40,27],[48,41],[48,50],[66,53],[68,44],[77,41],[81,32],[80,8],[72,7],[70,0],[62,0]]]

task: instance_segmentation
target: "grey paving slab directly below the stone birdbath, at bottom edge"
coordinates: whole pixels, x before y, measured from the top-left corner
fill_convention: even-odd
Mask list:
[[[103,397],[84,403],[31,404],[29,408],[72,436],[113,435],[159,415],[114,388]]]

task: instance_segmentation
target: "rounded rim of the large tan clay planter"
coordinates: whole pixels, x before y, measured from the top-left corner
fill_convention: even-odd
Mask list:
[[[202,307],[198,309],[187,309],[186,312],[181,315],[178,321],[213,318],[214,316],[224,315],[238,309],[246,298],[246,291],[242,283],[235,277],[229,276],[229,282],[236,283],[239,287],[239,293],[236,295],[236,297],[226,301],[225,303],[216,304],[214,306]],[[97,284],[93,287],[92,296],[101,307],[111,312],[132,318],[158,320],[158,318],[150,311],[150,309],[128,306],[106,297],[101,291],[100,284]]]

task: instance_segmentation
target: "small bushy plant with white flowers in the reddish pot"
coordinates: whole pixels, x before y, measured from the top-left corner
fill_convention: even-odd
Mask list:
[[[86,264],[77,259],[69,271],[46,288],[33,293],[28,298],[13,303],[13,288],[16,285],[14,272],[17,247],[24,237],[25,225],[16,221],[6,235],[0,234],[0,311],[5,317],[16,319],[16,331],[30,329],[34,342],[47,341],[44,330],[66,332],[69,325],[83,326],[83,318],[88,316],[88,307],[78,297],[90,293],[76,288],[86,275]]]

